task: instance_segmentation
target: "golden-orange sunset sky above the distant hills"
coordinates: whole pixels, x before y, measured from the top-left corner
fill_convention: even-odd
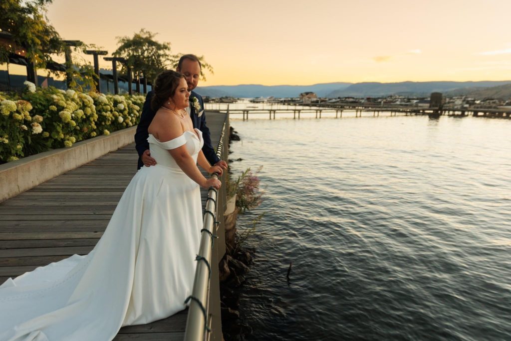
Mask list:
[[[62,38],[112,53],[145,28],[204,55],[200,85],[511,79],[510,0],[54,0]],[[103,61],[102,66],[111,63]]]

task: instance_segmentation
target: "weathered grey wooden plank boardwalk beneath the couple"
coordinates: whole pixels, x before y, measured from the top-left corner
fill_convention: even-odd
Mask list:
[[[216,148],[223,113],[208,112]],[[89,253],[136,172],[134,143],[0,203],[0,283],[38,266]],[[201,190],[202,200],[207,196]],[[107,308],[105,308],[107,309]],[[182,340],[187,311],[124,327],[114,340]]]

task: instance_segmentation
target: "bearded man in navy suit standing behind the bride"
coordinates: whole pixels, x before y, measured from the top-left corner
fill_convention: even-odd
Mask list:
[[[211,145],[210,129],[206,126],[206,115],[204,112],[204,102],[202,101],[202,97],[192,91],[197,87],[197,83],[199,82],[201,68],[202,65],[200,64],[199,58],[195,55],[189,54],[183,55],[179,59],[176,71],[184,75],[184,79],[188,84],[188,91],[191,92],[190,106],[187,108],[187,112],[192,119],[193,127],[202,131],[202,139],[204,140],[202,152],[204,153],[204,156],[210,164],[227,169],[227,163],[220,160],[215,149],[213,149],[213,146]],[[156,114],[156,111],[151,109],[152,97],[152,91],[147,93],[146,102],[142,109],[142,116],[140,117],[140,123],[138,123],[138,126],[136,127],[135,148],[138,152],[138,169],[141,169],[142,166],[149,167],[156,165],[156,161],[151,157],[149,143],[147,142],[147,138],[149,137],[147,128]]]

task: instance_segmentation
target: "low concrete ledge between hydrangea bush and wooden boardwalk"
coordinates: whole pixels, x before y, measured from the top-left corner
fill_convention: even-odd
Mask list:
[[[136,126],[126,128],[0,165],[0,202],[134,142],[135,131]]]

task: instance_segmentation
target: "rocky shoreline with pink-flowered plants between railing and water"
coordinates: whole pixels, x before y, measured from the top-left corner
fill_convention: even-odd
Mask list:
[[[230,127],[229,146],[233,141],[240,141],[240,137]],[[248,168],[233,181],[230,179],[229,168],[227,177],[227,209],[224,213],[226,249],[219,263],[222,334],[226,341],[243,340],[252,332],[240,315],[243,309],[240,307],[240,289],[255,256],[255,249],[246,247],[244,241],[254,232],[264,213],[252,221],[252,226],[243,226],[243,233],[238,232],[236,221],[238,214],[244,214],[261,204],[263,193],[259,189],[260,180],[257,176],[260,169],[252,172]]]

